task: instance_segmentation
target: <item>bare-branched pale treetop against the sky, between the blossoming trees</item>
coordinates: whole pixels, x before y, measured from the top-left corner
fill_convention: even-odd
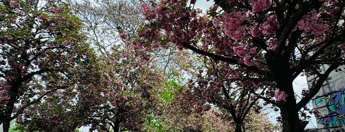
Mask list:
[[[138,0],[71,0],[72,9],[83,20],[88,42],[101,54],[122,39],[136,35],[144,22]],[[126,12],[126,13],[123,13]]]

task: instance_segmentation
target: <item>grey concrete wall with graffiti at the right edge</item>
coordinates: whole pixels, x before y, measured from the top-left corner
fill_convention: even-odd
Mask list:
[[[327,66],[321,69],[327,69]],[[330,77],[312,99],[313,108],[321,115],[316,117],[317,128],[321,132],[345,132],[345,70],[333,71]],[[312,78],[307,78],[309,86]]]

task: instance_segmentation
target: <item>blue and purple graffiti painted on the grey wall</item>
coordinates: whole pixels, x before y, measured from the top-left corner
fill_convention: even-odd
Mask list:
[[[315,104],[325,103],[328,114],[322,115],[317,123],[325,125],[325,128],[345,126],[345,88],[338,91],[317,96]],[[322,112],[321,112],[322,114]]]

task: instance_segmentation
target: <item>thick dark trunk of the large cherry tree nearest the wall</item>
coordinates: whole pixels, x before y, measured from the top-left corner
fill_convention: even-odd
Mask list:
[[[290,63],[288,56],[277,55],[274,51],[265,54],[267,65],[272,72],[274,81],[280,91],[287,94],[286,100],[278,101],[281,120],[283,124],[282,132],[303,132],[307,124],[301,122],[298,115],[295,92],[293,89],[293,77],[290,73]]]

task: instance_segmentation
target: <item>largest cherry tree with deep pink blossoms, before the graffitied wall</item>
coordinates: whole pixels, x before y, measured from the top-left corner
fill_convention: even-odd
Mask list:
[[[142,38],[132,43],[134,48],[152,50],[174,44],[208,58],[207,71],[200,67],[196,76],[200,79],[191,81],[190,87],[204,91],[196,93],[199,99],[195,100],[219,105],[231,103],[226,95],[243,93],[235,99],[263,99],[276,106],[283,132],[303,132],[308,121],[299,118],[300,111],[330,72],[345,64],[344,1],[214,0],[207,14],[194,9],[195,2],[143,3],[148,23],[139,29]],[[320,71],[320,66],[326,69]],[[292,83],[299,75],[314,79],[297,102]]]

